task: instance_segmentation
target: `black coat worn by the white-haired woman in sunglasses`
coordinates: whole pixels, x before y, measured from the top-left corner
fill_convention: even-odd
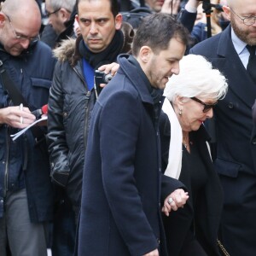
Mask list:
[[[166,170],[168,163],[169,143],[171,136],[170,121],[163,120],[160,124],[161,147],[162,147],[162,170]],[[204,126],[201,125],[198,131],[191,131],[195,146],[198,147],[201,160],[207,167],[207,184],[197,195],[197,205],[193,206],[191,195],[191,180],[189,177],[189,164],[183,159],[182,171],[179,180],[184,183],[189,191],[189,204],[177,212],[171,212],[170,218],[164,218],[166,229],[166,243],[171,256],[178,256],[187,232],[194,225],[195,238],[207,252],[207,255],[219,255],[217,247],[218,226],[220,222],[221,210],[223,206],[223,191],[214,170],[212,160],[207,148],[209,136]],[[193,212],[189,209],[192,207]]]

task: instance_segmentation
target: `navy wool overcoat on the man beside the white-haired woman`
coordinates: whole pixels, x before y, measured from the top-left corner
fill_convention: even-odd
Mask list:
[[[126,58],[119,56],[119,71],[93,109],[84,162],[81,256],[143,255],[159,243],[165,248],[154,102],[145,74]]]

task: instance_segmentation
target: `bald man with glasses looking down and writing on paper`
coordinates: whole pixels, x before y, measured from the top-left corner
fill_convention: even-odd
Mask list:
[[[44,135],[29,129],[33,111],[48,102],[55,67],[39,41],[41,14],[34,0],[6,0],[0,11],[0,254],[47,255],[45,224],[53,217],[53,190]],[[7,82],[8,81],[8,82]],[[10,81],[10,82],[9,82]],[[14,92],[15,91],[15,92]],[[22,107],[23,106],[23,107]]]

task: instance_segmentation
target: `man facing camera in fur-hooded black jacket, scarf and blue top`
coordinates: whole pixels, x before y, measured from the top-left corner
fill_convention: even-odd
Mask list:
[[[76,220],[90,113],[96,102],[94,71],[130,50],[133,36],[131,26],[122,24],[117,0],[79,0],[77,10],[81,36],[63,41],[54,51],[58,62],[48,113],[51,177],[65,189]]]

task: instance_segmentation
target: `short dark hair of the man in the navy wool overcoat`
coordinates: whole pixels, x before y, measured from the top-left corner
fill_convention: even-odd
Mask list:
[[[179,38],[184,44],[189,44],[188,30],[171,15],[154,13],[143,19],[138,26],[131,46],[132,55],[137,56],[139,50],[147,45],[155,54],[161,49],[167,49],[172,38]]]

